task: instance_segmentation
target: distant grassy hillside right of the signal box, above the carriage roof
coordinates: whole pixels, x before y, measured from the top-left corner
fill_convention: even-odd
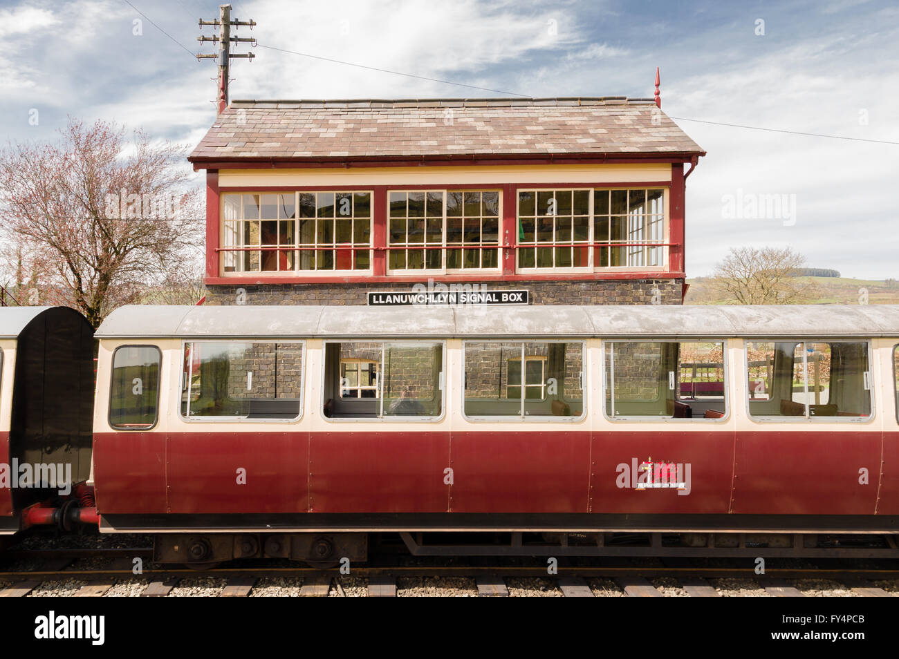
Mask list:
[[[849,277],[799,277],[814,283],[814,290],[802,304],[858,304],[867,291],[868,304],[899,304],[899,282],[895,279],[850,279]],[[726,304],[709,277],[688,279],[690,290],[685,304]]]

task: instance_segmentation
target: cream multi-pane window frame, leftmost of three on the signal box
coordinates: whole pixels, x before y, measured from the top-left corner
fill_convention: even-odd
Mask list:
[[[239,263],[240,259],[243,258],[243,255],[245,253],[253,252],[253,250],[229,251],[229,249],[231,247],[237,247],[237,248],[256,247],[255,245],[245,245],[245,244],[227,245],[226,244],[226,236],[227,236],[227,232],[228,232],[227,225],[229,223],[236,223],[238,225],[238,230],[236,232],[236,235],[237,235],[238,239],[242,241],[243,240],[243,232],[242,232],[243,224],[245,224],[247,222],[258,222],[258,223],[260,223],[260,233],[261,233],[262,232],[262,223],[263,223],[263,221],[265,221],[262,219],[257,219],[257,220],[245,219],[243,217],[233,219],[233,220],[227,220],[225,218],[225,207],[226,207],[227,197],[235,196],[237,198],[240,198],[240,201],[239,201],[240,208],[241,208],[240,215],[244,215],[244,213],[243,213],[243,197],[245,195],[258,195],[260,198],[262,198],[263,195],[289,195],[289,194],[292,194],[294,196],[294,209],[295,209],[295,211],[294,211],[295,217],[293,218],[294,242],[288,246],[282,246],[282,245],[280,245],[280,242],[279,242],[277,249],[275,249],[274,251],[276,254],[279,254],[279,255],[280,255],[281,251],[293,252],[293,254],[294,254],[293,268],[288,268],[288,269],[283,269],[283,270],[282,269],[263,270],[262,269],[262,260],[260,260],[260,269],[258,269],[258,270],[236,269],[236,270],[226,271],[225,264],[227,262],[228,255],[234,255],[234,259],[236,259],[236,262]],[[326,218],[318,217],[317,206],[316,206],[316,215],[314,217],[311,217],[311,218],[300,217],[300,210],[299,210],[300,195],[302,195],[302,194],[312,194],[312,195],[333,194],[335,205],[336,205],[337,195],[346,195],[346,194],[351,195],[351,196],[356,195],[356,194],[368,194],[369,195],[369,217],[368,217],[368,220],[369,220],[369,243],[368,243],[368,246],[366,247],[366,246],[360,245],[360,247],[357,248],[355,245],[355,242],[350,242],[348,245],[350,247],[350,249],[348,251],[350,251],[350,253],[351,253],[351,263],[355,259],[355,254],[357,251],[366,250],[369,252],[369,267],[368,268],[360,268],[360,269],[356,269],[356,268],[318,269],[318,268],[316,268],[316,269],[307,270],[307,269],[302,269],[299,267],[301,257],[304,253],[311,252],[313,255],[313,260],[317,261],[318,252],[319,251],[327,251],[327,250],[317,250],[317,249],[316,250],[300,250],[299,249],[300,247],[309,247],[310,244],[313,247],[316,247],[316,248],[319,247],[317,220],[318,219],[326,219]],[[316,200],[317,200],[317,198],[316,198]],[[355,198],[353,198],[353,205],[355,205]],[[260,206],[262,206],[261,201],[260,201]],[[338,216],[336,215],[336,209],[334,212],[335,212],[334,219],[337,219]],[[334,276],[360,277],[360,276],[371,276],[374,273],[374,250],[375,250],[375,239],[374,239],[374,234],[375,234],[375,190],[374,190],[374,188],[266,189],[266,190],[258,190],[258,189],[257,190],[253,190],[253,189],[232,190],[232,189],[229,189],[229,190],[227,190],[227,192],[222,192],[219,196],[218,213],[219,213],[219,215],[218,215],[219,216],[218,244],[219,244],[219,247],[222,249],[222,251],[220,251],[218,253],[219,277],[238,277],[238,278],[239,277],[247,277],[247,276],[252,276],[252,277],[334,277]],[[304,220],[304,219],[312,219],[312,220],[316,221],[316,231],[315,231],[315,242],[314,243],[304,243],[304,242],[301,242],[301,240],[300,240],[300,232],[299,232],[300,225],[299,225],[299,223],[301,220]],[[349,219],[352,220],[353,223],[355,223],[356,216],[353,214],[349,217]],[[360,219],[365,219],[365,218],[360,218]],[[285,221],[285,220],[278,220],[279,223],[283,222],[283,221]],[[279,233],[279,235],[280,235],[280,233]],[[353,239],[355,238],[355,234],[352,230],[351,230],[351,238],[353,238]],[[336,242],[336,240],[337,240],[337,235],[336,235],[336,230],[335,230],[334,231],[334,242],[328,243],[327,245],[323,245],[324,247],[333,247],[334,248],[332,250],[332,253],[334,253],[335,265],[336,265],[336,256],[337,256],[336,247],[338,245],[343,245],[344,247],[347,246],[346,243],[338,243],[338,242]],[[279,241],[280,241],[280,238],[279,238]],[[264,247],[262,244],[262,235],[260,235],[260,244],[258,247],[259,248]],[[262,254],[262,252],[260,252],[260,253]]]

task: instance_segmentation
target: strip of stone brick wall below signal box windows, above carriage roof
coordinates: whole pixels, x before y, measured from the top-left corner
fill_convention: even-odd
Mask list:
[[[478,284],[478,282],[471,282]],[[209,286],[207,304],[366,304],[367,294],[413,290],[414,282]],[[533,304],[681,304],[682,279],[486,282],[486,290],[527,289]]]

